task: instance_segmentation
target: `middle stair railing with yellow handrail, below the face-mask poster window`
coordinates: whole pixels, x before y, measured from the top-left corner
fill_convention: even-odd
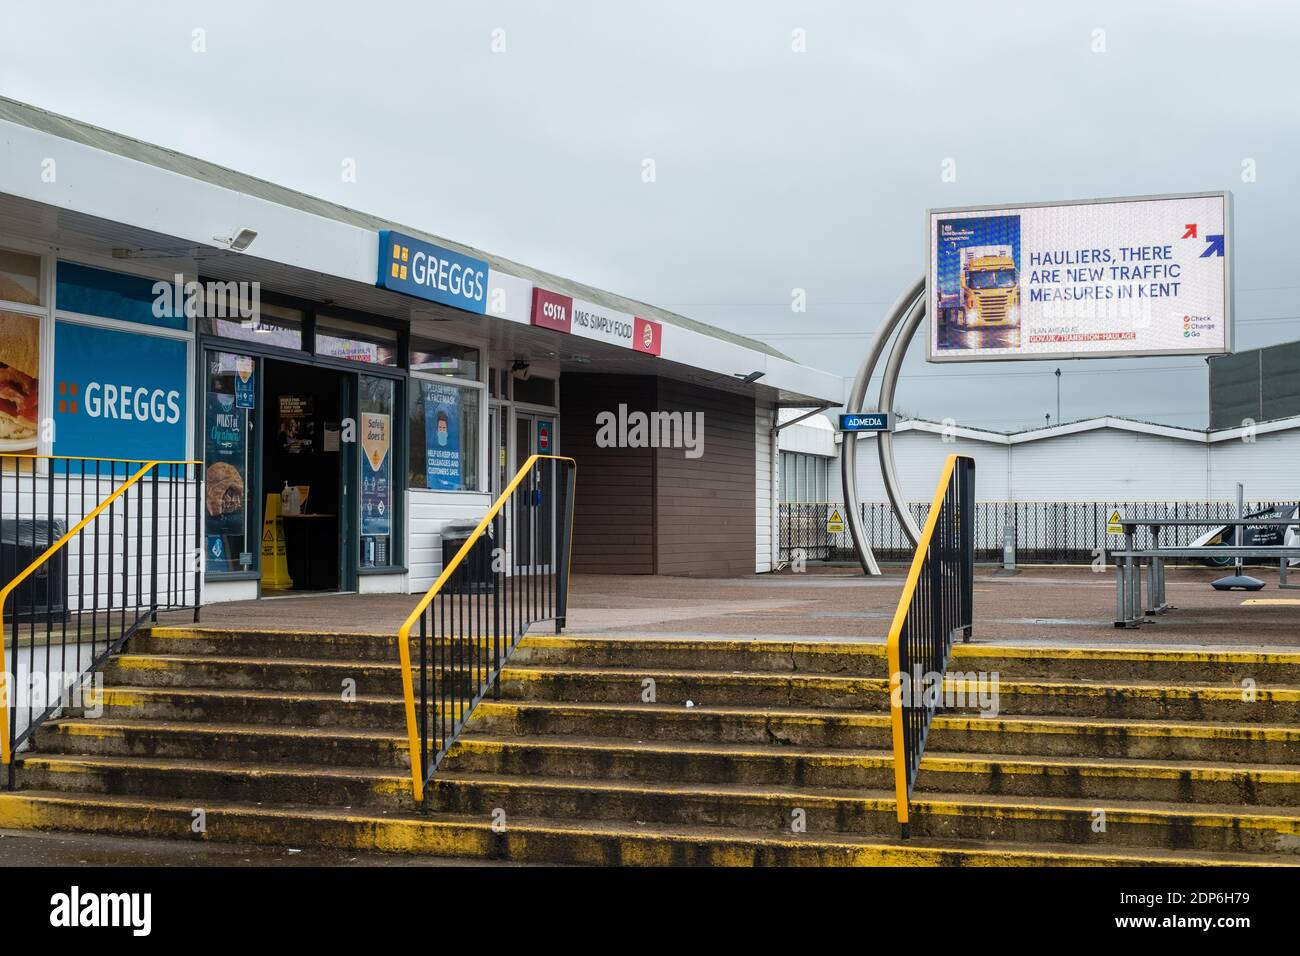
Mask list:
[[[576,481],[572,458],[524,462],[398,633],[416,803],[529,627],[564,628]]]

